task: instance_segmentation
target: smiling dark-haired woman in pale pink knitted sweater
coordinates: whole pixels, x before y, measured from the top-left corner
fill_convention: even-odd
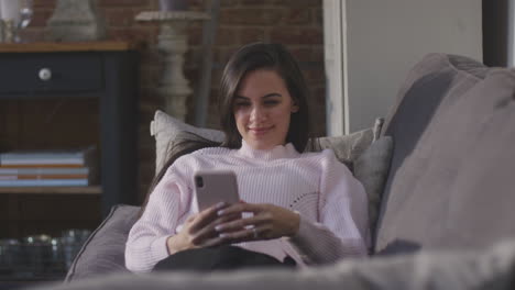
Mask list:
[[[365,256],[362,185],[332,150],[303,153],[307,88],[293,56],[278,44],[242,47],[226,66],[219,98],[224,142],[172,156],[129,234],[127,267],[303,266]],[[234,171],[244,202],[198,212],[193,175],[199,169]]]

